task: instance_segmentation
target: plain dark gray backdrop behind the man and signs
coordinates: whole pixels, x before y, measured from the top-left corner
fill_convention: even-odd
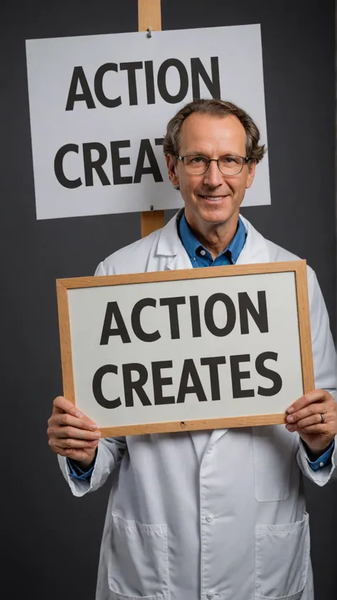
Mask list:
[[[314,267],[335,331],[333,1],[161,4],[163,29],[261,23],[272,206],[242,213]],[[92,274],[139,238],[140,217],[36,221],[25,39],[137,31],[137,1],[5,1],[0,18],[0,594],[93,600],[109,485],[73,498],[48,449],[46,421],[62,393],[55,278]],[[306,493],[316,599],[333,600],[337,488],[306,485]]]

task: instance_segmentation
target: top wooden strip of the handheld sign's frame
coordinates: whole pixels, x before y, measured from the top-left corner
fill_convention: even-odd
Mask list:
[[[254,263],[252,265],[225,265],[223,267],[202,267],[198,269],[178,269],[154,271],[153,273],[129,273],[128,275],[100,275],[99,277],[77,277],[59,279],[68,290],[73,288],[100,288],[105,285],[127,285],[130,283],[154,283],[156,281],[179,281],[183,279],[208,279],[229,275],[255,275],[258,273],[284,273],[299,270],[305,260],[291,260],[284,263]],[[297,279],[296,279],[297,281]],[[301,285],[301,284],[300,284]]]

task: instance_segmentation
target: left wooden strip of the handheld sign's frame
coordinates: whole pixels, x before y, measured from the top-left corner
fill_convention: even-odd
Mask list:
[[[71,349],[70,317],[68,290],[56,280],[58,295],[58,327],[60,330],[60,350],[63,377],[63,396],[75,404],[75,387],[73,374],[73,354]]]

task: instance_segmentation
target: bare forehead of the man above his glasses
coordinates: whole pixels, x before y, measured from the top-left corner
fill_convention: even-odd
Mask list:
[[[193,112],[186,117],[179,136],[179,146],[186,144],[235,144],[245,148],[246,132],[235,115],[209,115]]]

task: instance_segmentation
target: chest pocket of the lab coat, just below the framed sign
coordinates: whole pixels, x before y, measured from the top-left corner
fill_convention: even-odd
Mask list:
[[[252,451],[257,502],[286,500],[294,436],[280,425],[252,427]]]

